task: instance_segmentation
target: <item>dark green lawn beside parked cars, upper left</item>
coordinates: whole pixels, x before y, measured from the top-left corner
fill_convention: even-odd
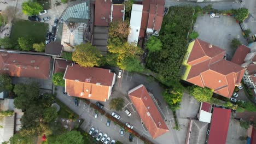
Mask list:
[[[15,20],[11,30],[10,39],[17,41],[20,37],[31,37],[36,43],[41,43],[45,41],[45,35],[48,28],[48,23]]]

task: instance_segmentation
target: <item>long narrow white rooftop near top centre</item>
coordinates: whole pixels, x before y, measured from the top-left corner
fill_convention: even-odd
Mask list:
[[[128,35],[128,42],[138,44],[139,30],[141,29],[143,5],[132,4],[131,20],[130,20],[130,34]]]

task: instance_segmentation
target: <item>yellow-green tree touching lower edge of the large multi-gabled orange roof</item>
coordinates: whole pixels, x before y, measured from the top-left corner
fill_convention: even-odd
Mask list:
[[[204,102],[211,100],[213,92],[210,88],[207,87],[202,88],[198,86],[193,86],[193,89],[191,89],[190,94],[193,95],[197,101]]]

